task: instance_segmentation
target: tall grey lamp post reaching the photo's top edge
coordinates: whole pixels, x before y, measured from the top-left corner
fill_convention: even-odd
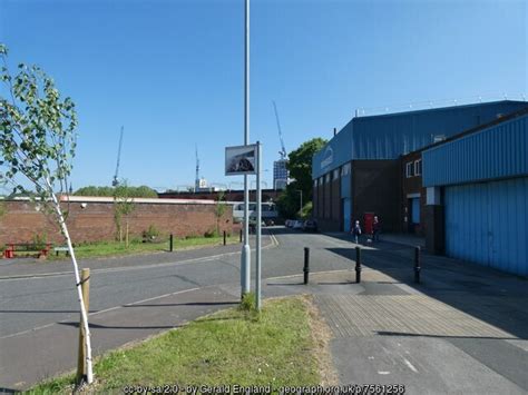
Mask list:
[[[244,145],[250,144],[250,0],[244,1]],[[244,245],[241,257],[242,295],[250,292],[250,191],[247,175],[244,175]]]

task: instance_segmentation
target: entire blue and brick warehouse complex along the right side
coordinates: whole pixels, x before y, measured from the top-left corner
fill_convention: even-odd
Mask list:
[[[353,118],[313,158],[314,218],[350,231],[375,214],[437,254],[528,275],[527,111],[505,100]]]

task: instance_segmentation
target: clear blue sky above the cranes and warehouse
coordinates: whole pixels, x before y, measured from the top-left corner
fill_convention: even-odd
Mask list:
[[[74,187],[120,177],[176,188],[224,176],[243,142],[243,0],[0,0],[12,66],[38,63],[77,103]],[[251,140],[272,185],[286,150],[330,138],[356,108],[528,91],[526,1],[301,1],[251,4]],[[371,110],[374,111],[374,110]]]

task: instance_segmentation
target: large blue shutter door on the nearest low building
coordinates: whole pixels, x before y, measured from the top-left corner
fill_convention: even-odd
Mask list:
[[[528,275],[528,178],[447,187],[446,253]]]

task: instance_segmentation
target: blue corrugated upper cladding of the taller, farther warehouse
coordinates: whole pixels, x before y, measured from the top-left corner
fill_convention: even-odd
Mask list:
[[[436,108],[353,118],[312,160],[312,178],[359,159],[397,159],[434,141],[527,107],[524,101]]]

